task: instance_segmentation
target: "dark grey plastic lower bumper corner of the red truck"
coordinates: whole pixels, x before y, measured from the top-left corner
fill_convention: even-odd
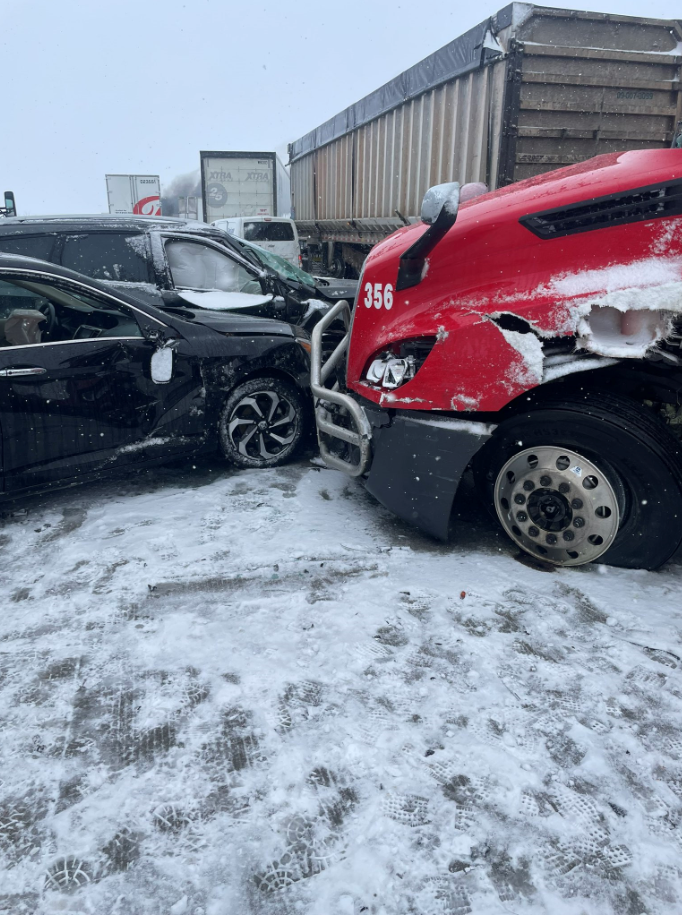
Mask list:
[[[399,518],[447,540],[459,481],[495,427],[432,413],[398,415],[386,423],[385,413],[365,412],[374,426],[368,491]]]

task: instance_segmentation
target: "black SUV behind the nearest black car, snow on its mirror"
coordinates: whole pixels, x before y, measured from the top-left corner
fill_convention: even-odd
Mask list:
[[[308,329],[338,299],[258,259],[203,222],[145,216],[32,216],[0,220],[0,253],[51,261],[191,315],[245,311]],[[305,277],[305,274],[301,274]]]

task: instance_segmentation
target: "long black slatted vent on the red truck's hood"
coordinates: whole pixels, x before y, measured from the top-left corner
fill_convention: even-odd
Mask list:
[[[682,181],[668,181],[532,213],[522,216],[519,222],[538,238],[547,239],[680,214]]]

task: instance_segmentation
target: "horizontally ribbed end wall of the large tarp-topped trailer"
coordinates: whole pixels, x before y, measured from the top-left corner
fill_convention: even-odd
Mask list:
[[[681,41],[672,22],[536,11],[508,46],[500,183],[600,153],[670,146],[682,117]]]

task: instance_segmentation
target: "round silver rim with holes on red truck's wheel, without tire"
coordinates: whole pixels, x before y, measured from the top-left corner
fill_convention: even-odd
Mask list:
[[[559,566],[594,562],[620,522],[614,488],[592,461],[566,448],[526,448],[495,481],[495,511],[522,550]]]

